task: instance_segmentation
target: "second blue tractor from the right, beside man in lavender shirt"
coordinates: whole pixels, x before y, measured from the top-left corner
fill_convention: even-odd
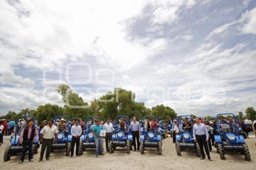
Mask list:
[[[179,134],[176,134],[176,142],[175,142],[175,147],[176,147],[176,153],[177,155],[181,155],[181,150],[183,149],[188,149],[188,150],[195,150],[196,156],[201,157],[201,150],[199,147],[198,142],[194,141],[193,138],[193,130],[186,130],[185,128],[182,128],[182,118],[187,117],[192,120],[192,117],[190,115],[184,115],[184,116],[178,116],[177,120],[178,126],[179,126]],[[191,122],[192,123],[192,122]]]

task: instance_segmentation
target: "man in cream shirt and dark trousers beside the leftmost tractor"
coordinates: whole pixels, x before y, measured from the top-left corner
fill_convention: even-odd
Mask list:
[[[40,137],[41,137],[40,143],[42,144],[42,147],[41,147],[39,162],[43,160],[43,156],[44,156],[46,147],[47,147],[47,149],[46,149],[45,157],[46,157],[46,160],[50,160],[49,157],[50,157],[52,141],[53,141],[54,136],[55,136],[54,143],[57,141],[58,129],[52,123],[53,123],[53,121],[49,120],[48,125],[44,126],[40,132]]]

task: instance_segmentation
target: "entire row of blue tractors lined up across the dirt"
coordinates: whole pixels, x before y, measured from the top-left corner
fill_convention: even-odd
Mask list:
[[[219,115],[227,115],[227,114],[218,114],[216,116],[216,120],[218,120]],[[233,114],[229,114],[233,115]],[[25,117],[28,118],[28,115],[22,115],[17,118]],[[30,117],[33,117],[30,115]],[[195,150],[196,156],[201,157],[201,151],[199,144],[194,141],[192,131],[185,131],[181,126],[181,120],[184,117],[190,118],[192,121],[192,117],[190,115],[183,115],[177,117],[178,120],[178,127],[179,127],[179,134],[176,134],[176,153],[177,155],[181,155],[182,150]],[[233,117],[235,117],[233,115]],[[35,117],[33,117],[36,119]],[[65,118],[70,122],[70,117],[68,116],[56,116],[54,118],[54,124],[57,119]],[[95,123],[87,123],[89,120],[98,119],[97,116],[87,116],[85,118],[85,128],[84,128],[84,135],[81,135],[80,144],[79,144],[79,154],[82,155],[83,151],[88,148],[95,148],[95,138],[92,133],[92,128],[95,126]],[[124,119],[129,120],[127,116],[117,116],[115,119],[114,124],[114,133],[112,135],[112,141],[109,143],[109,152],[114,153],[117,147],[123,147],[126,149],[126,153],[130,153],[132,150],[132,131],[129,128],[130,122],[125,121],[126,128],[120,128],[118,126],[117,120]],[[145,116],[142,118],[142,127],[141,127],[141,135],[140,135],[140,153],[143,154],[145,148],[156,148],[158,151],[158,155],[162,154],[162,138],[164,137],[164,132],[162,132],[163,127],[155,126],[155,129],[145,129],[146,119],[153,119],[157,122],[157,117],[155,116]],[[236,121],[236,119],[234,119]],[[237,125],[237,123],[235,123]],[[173,132],[172,124],[169,124],[167,127],[168,131],[171,134]],[[236,129],[236,130],[235,130]],[[217,121],[217,132],[214,134],[215,143],[214,146],[217,148],[217,153],[220,154],[221,159],[225,159],[226,152],[239,152],[245,156],[245,160],[250,161],[250,152],[248,149],[247,144],[242,135],[239,135],[238,132],[239,127],[234,127],[232,123],[229,122],[219,122]],[[39,135],[40,135],[39,129]],[[161,134],[158,133],[158,130],[161,131]],[[16,127],[17,131],[17,127]],[[40,136],[39,136],[40,137]],[[39,137],[35,140],[33,144],[33,153],[38,152],[39,148]],[[67,132],[58,132],[57,142],[52,144],[52,151],[54,150],[65,150],[65,155],[69,156],[71,151],[71,133],[70,133],[70,124],[67,123]],[[4,161],[10,160],[12,155],[16,155],[17,153],[22,152],[22,145],[19,143],[19,138],[17,137],[17,133],[15,133],[15,137],[11,140],[11,144],[5,148],[4,153]]]

